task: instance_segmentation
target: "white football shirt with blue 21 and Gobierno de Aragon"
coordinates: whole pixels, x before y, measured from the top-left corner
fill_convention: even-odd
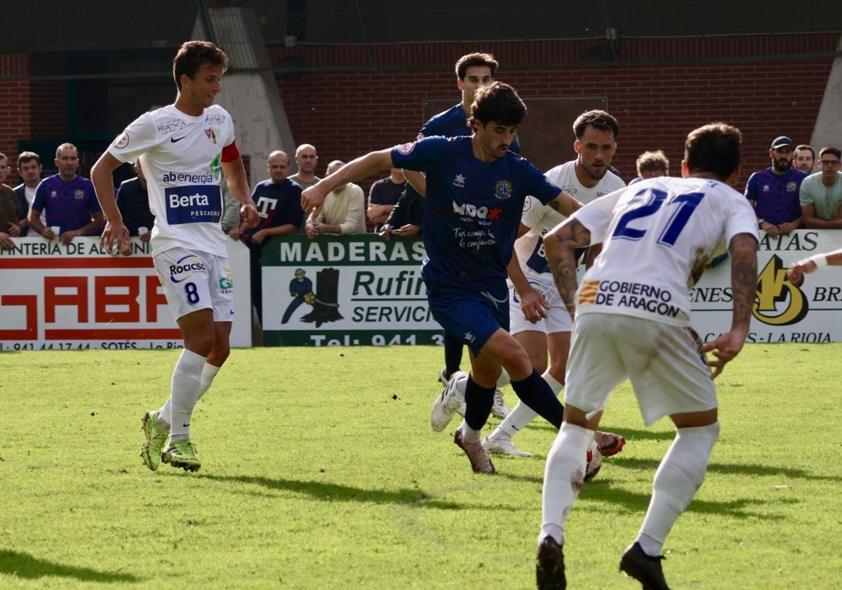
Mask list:
[[[688,293],[738,233],[757,238],[749,201],[718,180],[642,180],[573,213],[602,243],[578,289],[577,314],[634,315],[690,325]]]

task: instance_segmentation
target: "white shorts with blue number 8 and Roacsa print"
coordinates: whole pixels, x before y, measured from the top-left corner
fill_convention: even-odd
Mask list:
[[[233,321],[234,283],[226,257],[173,248],[152,260],[175,319],[210,308],[215,322]]]

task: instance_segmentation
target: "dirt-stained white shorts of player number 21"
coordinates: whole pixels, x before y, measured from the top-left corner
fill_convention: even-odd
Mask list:
[[[611,390],[629,379],[643,422],[680,412],[712,410],[717,391],[698,335],[631,315],[578,315],[568,358],[565,403],[604,410]]]

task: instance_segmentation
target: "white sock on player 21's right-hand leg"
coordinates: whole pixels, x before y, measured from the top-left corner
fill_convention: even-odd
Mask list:
[[[707,459],[719,438],[719,422],[675,432],[675,440],[655,472],[652,500],[637,534],[647,555],[660,553],[669,530],[705,479]]]

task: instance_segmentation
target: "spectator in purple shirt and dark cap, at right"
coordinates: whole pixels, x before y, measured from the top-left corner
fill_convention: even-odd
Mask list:
[[[776,137],[769,149],[772,165],[749,176],[745,185],[745,196],[754,207],[759,228],[772,238],[802,227],[798,191],[807,174],[792,168],[794,146],[789,137]]]

